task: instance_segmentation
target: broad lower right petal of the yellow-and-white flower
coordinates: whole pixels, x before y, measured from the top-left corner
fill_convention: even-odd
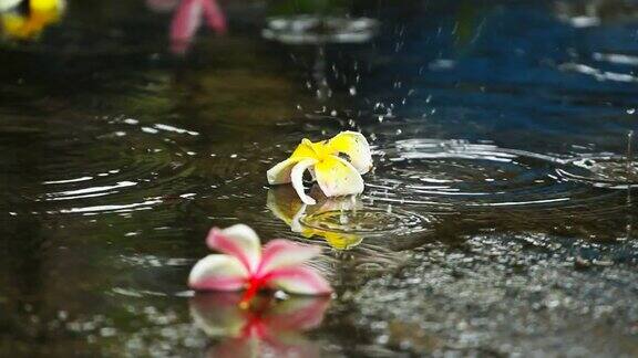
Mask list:
[[[315,166],[317,182],[327,197],[363,192],[363,178],[354,167],[335,156],[328,156]]]

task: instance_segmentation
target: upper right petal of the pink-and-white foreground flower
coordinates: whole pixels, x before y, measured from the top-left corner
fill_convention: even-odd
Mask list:
[[[302,245],[288,240],[272,240],[264,246],[257,275],[267,275],[274,270],[300,265],[320,252],[321,249],[318,246]]]

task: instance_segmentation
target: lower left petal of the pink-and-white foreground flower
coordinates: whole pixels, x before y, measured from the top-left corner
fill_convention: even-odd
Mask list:
[[[238,291],[248,272],[235,257],[208,255],[199,260],[188,275],[188,286],[195,291]]]

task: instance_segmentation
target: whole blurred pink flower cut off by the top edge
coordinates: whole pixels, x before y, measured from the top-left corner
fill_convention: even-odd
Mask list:
[[[226,32],[226,15],[216,0],[147,0],[146,3],[157,12],[174,10],[169,38],[171,51],[175,54],[188,51],[202,20],[213,31]]]

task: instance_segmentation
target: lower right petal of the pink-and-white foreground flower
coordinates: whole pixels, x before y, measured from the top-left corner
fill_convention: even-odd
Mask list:
[[[269,275],[268,285],[299,295],[327,295],[332,292],[326,278],[306,266],[272,271]]]

